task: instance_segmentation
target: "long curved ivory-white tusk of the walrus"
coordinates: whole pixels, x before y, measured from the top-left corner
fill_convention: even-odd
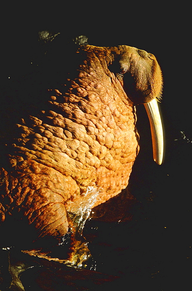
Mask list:
[[[151,127],[153,159],[158,165],[161,165],[163,159],[163,128],[157,100],[155,98],[144,105]]]

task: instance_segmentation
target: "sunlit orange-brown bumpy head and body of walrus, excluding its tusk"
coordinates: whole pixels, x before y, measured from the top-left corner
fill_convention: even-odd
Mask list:
[[[139,150],[133,105],[161,91],[160,68],[145,51],[86,45],[78,57],[59,90],[45,93],[46,107],[40,103],[35,116],[23,113],[5,141],[1,222],[17,212],[37,237],[63,236],[70,203],[83,199],[88,186],[100,189],[92,207],[127,186]]]

